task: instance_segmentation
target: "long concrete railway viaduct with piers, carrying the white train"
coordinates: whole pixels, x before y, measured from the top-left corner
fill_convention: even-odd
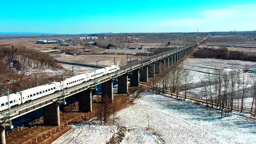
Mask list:
[[[14,118],[44,108],[44,124],[46,125],[59,125],[60,124],[60,104],[66,104],[65,98],[73,95],[78,96],[78,106],[81,112],[92,111],[92,88],[98,84],[102,86],[101,96],[103,100],[113,102],[113,81],[118,81],[118,93],[128,93],[128,75],[130,75],[130,86],[138,87],[139,82],[147,82],[148,78],[154,78],[155,74],[161,70],[168,68],[188,53],[190,53],[196,45],[204,42],[210,35],[197,42],[192,42],[182,48],[176,48],[167,52],[162,52],[150,58],[145,58],[136,62],[130,62],[124,66],[120,66],[118,72],[107,74],[100,78],[84,82],[82,84],[73,86],[63,91],[44,96],[32,102],[16,106],[0,112],[0,144],[5,144],[5,129],[13,128],[10,121]]]

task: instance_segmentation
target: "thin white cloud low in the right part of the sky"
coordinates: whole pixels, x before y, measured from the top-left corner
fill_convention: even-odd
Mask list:
[[[204,10],[196,18],[166,20],[159,26],[204,31],[256,30],[256,4],[236,5],[224,9]],[[201,31],[201,30],[200,30]]]

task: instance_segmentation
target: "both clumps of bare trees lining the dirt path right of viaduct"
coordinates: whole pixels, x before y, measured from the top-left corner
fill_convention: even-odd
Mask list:
[[[186,99],[187,90],[194,85],[191,82],[192,78],[189,70],[185,70],[182,64],[176,64],[154,78],[154,90],[157,93],[160,89],[162,92],[168,90],[176,93],[177,98],[179,91],[182,90]],[[205,74],[199,85],[206,99],[206,106],[219,108],[222,110],[222,116],[224,110],[225,116],[228,116],[228,109],[242,112],[244,100],[248,97],[252,97],[250,110],[256,115],[256,78],[250,74],[237,70],[215,70],[214,74]]]

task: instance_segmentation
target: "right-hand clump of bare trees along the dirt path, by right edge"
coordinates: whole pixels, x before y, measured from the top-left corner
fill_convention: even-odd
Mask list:
[[[250,83],[252,86],[249,88]],[[254,115],[256,114],[256,78],[250,74],[240,73],[236,70],[226,72],[224,70],[216,70],[215,74],[207,74],[201,80],[204,85],[206,100],[210,96],[210,101],[213,105],[219,107],[222,112],[227,110],[236,110],[242,112],[244,109],[244,99],[250,96],[250,89],[253,89],[252,106],[254,107]],[[249,96],[248,96],[249,95]],[[228,115],[227,115],[228,116]]]

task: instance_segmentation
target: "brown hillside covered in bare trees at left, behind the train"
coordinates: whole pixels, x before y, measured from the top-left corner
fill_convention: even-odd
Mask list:
[[[1,70],[0,74],[20,71],[24,76],[29,69],[60,68],[61,66],[48,56],[48,54],[26,48],[25,46],[1,46],[0,47]]]

